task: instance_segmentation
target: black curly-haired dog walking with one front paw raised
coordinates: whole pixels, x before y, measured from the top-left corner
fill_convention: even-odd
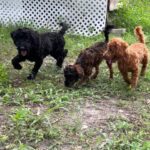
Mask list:
[[[62,67],[62,63],[68,53],[64,49],[64,34],[68,25],[60,23],[62,29],[59,32],[38,33],[29,28],[20,28],[11,33],[11,37],[18,50],[17,56],[12,59],[15,69],[20,70],[20,62],[29,60],[35,62],[31,74],[27,77],[33,80],[47,55],[51,55],[57,61],[56,65]]]

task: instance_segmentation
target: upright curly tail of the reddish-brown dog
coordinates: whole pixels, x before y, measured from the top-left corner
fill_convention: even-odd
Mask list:
[[[138,38],[140,43],[145,43],[144,32],[141,26],[135,27],[134,34]]]

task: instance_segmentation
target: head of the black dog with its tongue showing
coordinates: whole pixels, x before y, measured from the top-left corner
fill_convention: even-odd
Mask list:
[[[35,40],[33,34],[35,33],[27,28],[18,29],[11,33],[19,55],[25,57],[33,49],[33,42]]]

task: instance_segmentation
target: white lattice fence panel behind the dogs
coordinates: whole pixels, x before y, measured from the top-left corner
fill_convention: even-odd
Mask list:
[[[1,23],[26,22],[57,30],[61,20],[74,34],[98,34],[106,13],[107,0],[0,0]]]

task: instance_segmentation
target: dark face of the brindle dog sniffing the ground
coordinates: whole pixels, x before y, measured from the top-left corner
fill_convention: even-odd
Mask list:
[[[69,65],[64,69],[64,77],[64,84],[67,87],[73,86],[79,80],[78,72],[73,65]]]

